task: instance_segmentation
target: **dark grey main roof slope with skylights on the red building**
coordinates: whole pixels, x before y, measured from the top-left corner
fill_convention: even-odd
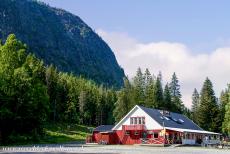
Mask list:
[[[170,112],[170,115],[165,116],[166,118],[164,118],[164,116],[162,116],[162,114],[160,113],[160,110],[146,108],[143,106],[139,106],[139,107],[142,110],[144,110],[150,117],[156,120],[161,126],[163,126],[163,121],[164,121],[164,127],[203,130],[198,125],[196,125],[192,120],[190,120],[189,118],[187,118],[182,114]]]

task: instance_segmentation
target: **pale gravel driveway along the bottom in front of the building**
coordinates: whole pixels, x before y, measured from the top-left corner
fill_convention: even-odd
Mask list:
[[[55,146],[23,146],[6,147],[0,153],[102,153],[102,154],[230,154],[230,149],[214,149],[202,147],[146,147],[128,145],[106,145],[106,146],[85,146],[85,145],[55,145]]]

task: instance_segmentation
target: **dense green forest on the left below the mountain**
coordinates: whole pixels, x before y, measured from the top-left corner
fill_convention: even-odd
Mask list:
[[[0,43],[0,141],[39,140],[46,123],[113,124],[116,91],[45,66],[25,44]]]

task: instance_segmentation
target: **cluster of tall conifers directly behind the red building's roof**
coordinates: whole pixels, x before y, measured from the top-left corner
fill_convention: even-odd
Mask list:
[[[119,121],[135,105],[183,113],[190,117],[190,111],[181,100],[180,85],[176,73],[173,73],[171,82],[163,88],[161,72],[151,75],[146,68],[143,73],[137,69],[135,77],[130,81],[124,79],[124,87],[118,92],[115,103],[114,117]]]

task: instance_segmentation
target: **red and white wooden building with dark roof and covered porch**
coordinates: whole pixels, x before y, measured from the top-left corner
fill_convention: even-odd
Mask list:
[[[218,143],[220,134],[205,131],[182,114],[136,105],[115,126],[94,129],[87,142],[99,144]]]

